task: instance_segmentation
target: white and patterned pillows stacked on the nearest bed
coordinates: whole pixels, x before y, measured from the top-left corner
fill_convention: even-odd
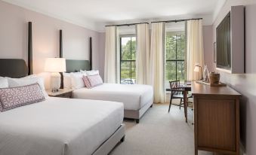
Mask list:
[[[43,78],[36,75],[24,78],[0,77],[0,111],[42,102],[47,97]]]

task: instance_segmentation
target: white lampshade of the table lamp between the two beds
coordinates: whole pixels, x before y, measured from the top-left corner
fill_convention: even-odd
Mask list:
[[[47,58],[45,61],[45,71],[64,72],[66,71],[65,58]]]

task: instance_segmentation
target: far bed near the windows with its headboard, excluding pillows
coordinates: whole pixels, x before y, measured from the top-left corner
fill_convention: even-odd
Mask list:
[[[88,64],[88,60],[66,59],[66,72],[88,71]],[[103,84],[91,89],[83,87],[74,90],[72,97],[122,102],[125,118],[135,119],[139,123],[140,117],[153,105],[153,87],[142,84]]]

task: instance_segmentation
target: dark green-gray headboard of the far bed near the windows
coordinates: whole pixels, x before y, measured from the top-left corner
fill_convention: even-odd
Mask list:
[[[66,59],[66,72],[76,72],[81,70],[90,70],[89,60]]]

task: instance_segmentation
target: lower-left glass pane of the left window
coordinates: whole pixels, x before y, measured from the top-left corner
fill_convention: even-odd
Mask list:
[[[121,62],[121,84],[128,84],[131,72],[131,62]]]

